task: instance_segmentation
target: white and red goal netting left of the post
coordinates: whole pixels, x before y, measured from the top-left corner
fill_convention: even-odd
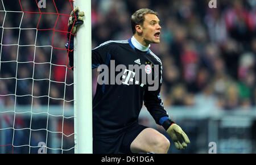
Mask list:
[[[72,0],[0,1],[0,153],[74,153]]]

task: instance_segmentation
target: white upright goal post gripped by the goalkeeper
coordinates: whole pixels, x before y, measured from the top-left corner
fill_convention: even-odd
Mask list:
[[[74,46],[75,153],[92,153],[92,26],[90,0],[77,0],[74,7],[85,12]]]

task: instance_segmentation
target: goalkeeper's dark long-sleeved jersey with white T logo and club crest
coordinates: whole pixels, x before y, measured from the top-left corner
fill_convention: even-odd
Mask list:
[[[104,83],[97,84],[93,99],[94,136],[116,134],[138,122],[143,101],[156,124],[160,125],[161,117],[168,117],[159,95],[162,62],[150,49],[139,44],[134,37],[130,40],[107,41],[92,50],[92,68],[100,65],[108,66],[108,69],[101,71],[100,75],[105,75],[102,77]],[[129,70],[129,65],[142,67],[139,71]],[[158,71],[155,71],[156,66]],[[104,71],[108,71],[108,74]],[[143,75],[146,75],[146,83]],[[149,76],[154,84],[156,80],[159,83],[155,90],[149,88],[154,86],[152,81],[148,83]],[[117,84],[115,79],[113,81],[113,77],[121,84]]]

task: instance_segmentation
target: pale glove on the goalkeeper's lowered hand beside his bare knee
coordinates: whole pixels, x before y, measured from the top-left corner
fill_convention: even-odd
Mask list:
[[[185,134],[180,126],[175,123],[171,124],[166,132],[178,150],[185,149],[185,147],[190,143],[187,134]]]

